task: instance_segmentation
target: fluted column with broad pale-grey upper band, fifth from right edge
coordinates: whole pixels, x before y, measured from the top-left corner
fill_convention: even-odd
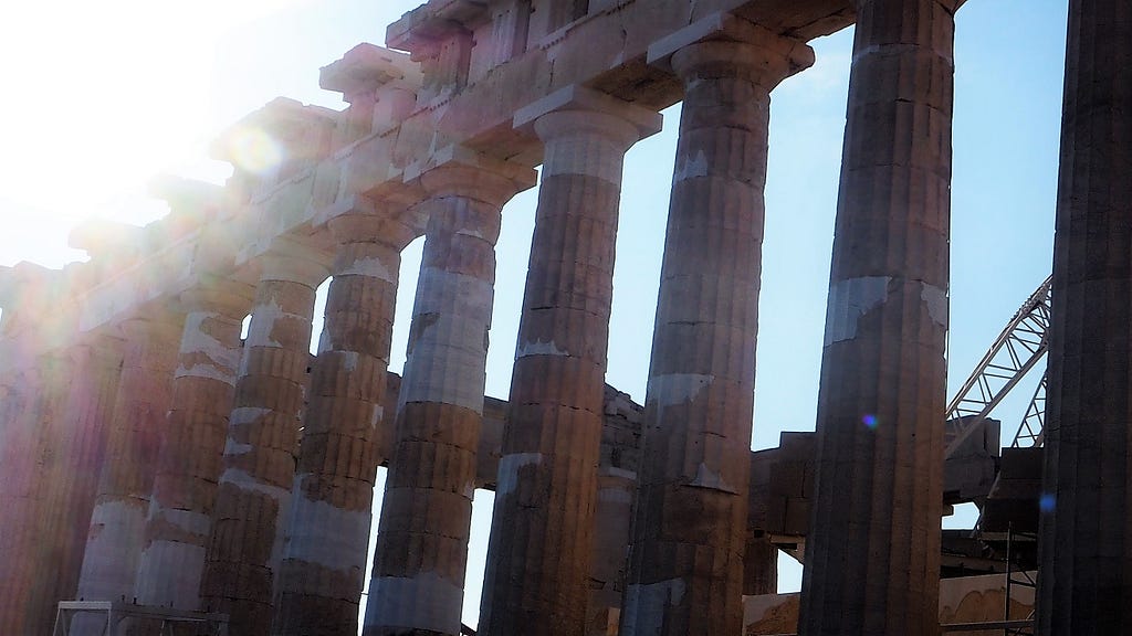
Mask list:
[[[495,242],[500,208],[518,189],[463,165],[434,169],[421,183],[429,221],[366,636],[460,633]]]

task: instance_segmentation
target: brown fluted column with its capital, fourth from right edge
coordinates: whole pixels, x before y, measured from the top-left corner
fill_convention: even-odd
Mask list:
[[[533,121],[546,149],[480,630],[577,635],[593,547],[621,165],[629,146],[660,129],[660,115],[572,87],[516,120]]]

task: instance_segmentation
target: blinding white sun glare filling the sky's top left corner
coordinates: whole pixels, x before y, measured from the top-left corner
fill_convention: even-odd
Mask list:
[[[214,121],[217,41],[305,0],[20,2],[0,20],[0,215],[17,234],[102,216],[145,224],[157,173],[222,181],[206,148]],[[263,158],[252,145],[251,158]],[[8,249],[12,241],[12,249]],[[59,248],[63,248],[60,246]],[[65,250],[66,251],[66,250]],[[25,256],[26,258],[26,256]],[[75,255],[44,255],[45,261]]]

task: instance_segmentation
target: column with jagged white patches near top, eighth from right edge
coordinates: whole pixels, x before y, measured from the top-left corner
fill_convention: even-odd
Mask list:
[[[250,293],[242,283],[208,280],[181,294],[188,317],[173,378],[169,433],[155,461],[138,571],[143,603],[198,609],[209,515],[240,361],[240,326],[251,306]]]

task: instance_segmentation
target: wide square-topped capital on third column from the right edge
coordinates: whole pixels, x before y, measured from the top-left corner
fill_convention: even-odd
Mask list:
[[[773,88],[814,65],[814,50],[752,22],[717,12],[649,46],[650,65],[669,68],[684,81],[710,72],[748,77]]]

